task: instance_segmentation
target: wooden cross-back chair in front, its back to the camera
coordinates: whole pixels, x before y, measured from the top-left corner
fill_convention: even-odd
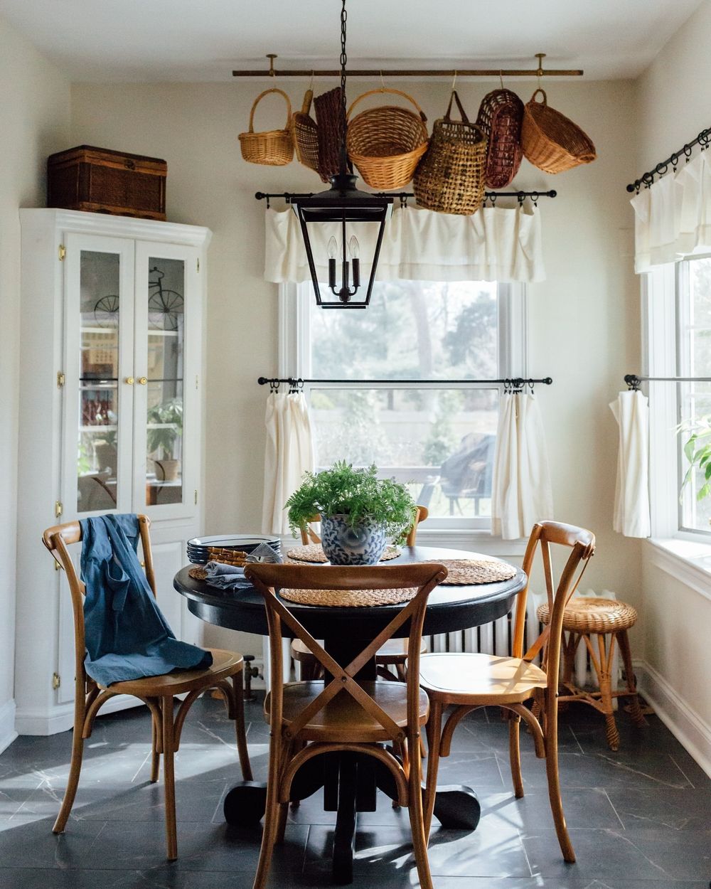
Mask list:
[[[410,812],[419,882],[431,889],[421,791],[420,726],[427,721],[427,695],[418,683],[419,645],[427,597],[443,581],[443,565],[247,565],[245,576],[267,607],[272,688],[265,701],[270,724],[267,811],[254,889],[263,889],[274,845],[284,836],[292,779],[311,757],[354,751],[376,757],[395,779],[397,802]],[[340,665],[276,597],[275,589],[407,589],[418,592],[350,663]],[[358,682],[354,678],[379,647],[410,621],[406,683]],[[293,633],[323,667],[325,679],[284,684],[282,629]],[[384,749],[390,741],[401,754]]]

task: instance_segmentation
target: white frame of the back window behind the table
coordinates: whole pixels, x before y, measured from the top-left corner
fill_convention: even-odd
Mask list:
[[[309,318],[311,302],[314,299],[310,282],[304,284],[280,284],[279,286],[279,345],[278,366],[280,377],[311,377],[309,349]],[[528,299],[525,284],[497,283],[498,305],[498,376],[504,378],[528,377]],[[367,309],[365,309],[367,311]],[[482,383],[448,384],[443,380],[443,389],[451,388],[498,388],[499,396],[503,385]],[[317,386],[304,386],[307,397],[311,388],[349,388],[343,384],[319,383]],[[359,380],[354,380],[353,388],[364,388]],[[367,388],[419,388],[417,383],[370,384]],[[430,387],[428,387],[430,388]],[[477,541],[477,548],[488,549],[484,541],[499,541],[491,535],[490,517],[443,517],[428,518],[427,525],[419,529],[419,539],[439,542],[443,545],[464,545],[471,548]],[[503,541],[507,554],[523,552],[520,541]],[[497,552],[502,553],[499,546]],[[502,553],[503,554],[503,553]]]

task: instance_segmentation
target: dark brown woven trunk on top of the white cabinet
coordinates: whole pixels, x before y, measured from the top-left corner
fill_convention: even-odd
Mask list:
[[[159,157],[79,145],[47,158],[47,206],[165,220]]]

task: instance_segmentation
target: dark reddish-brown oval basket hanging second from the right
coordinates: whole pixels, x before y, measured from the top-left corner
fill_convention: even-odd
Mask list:
[[[492,90],[483,97],[476,116],[489,146],[483,180],[487,188],[506,188],[521,166],[523,102],[510,90]]]

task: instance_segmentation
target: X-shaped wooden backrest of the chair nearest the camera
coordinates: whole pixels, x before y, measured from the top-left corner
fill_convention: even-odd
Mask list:
[[[410,621],[408,642],[408,682],[407,714],[408,724],[417,725],[419,705],[419,649],[422,638],[422,625],[427,608],[427,597],[438,583],[447,576],[443,565],[419,563],[412,565],[267,565],[265,563],[247,565],[245,577],[260,590],[267,606],[269,643],[271,647],[272,677],[272,730],[281,730],[283,673],[282,673],[282,631],[291,631],[313,653],[326,675],[324,691],[319,693],[292,721],[289,735],[296,738],[301,729],[316,717],[329,701],[339,693],[348,693],[363,710],[376,720],[387,736],[402,741],[403,730],[379,707],[363,686],[354,677],[363,666],[375,656],[381,645],[395,634],[406,621]],[[378,636],[363,648],[345,666],[335,661],[331,654],[319,645],[290,612],[284,601],[276,596],[278,589],[417,589],[409,602],[403,603],[395,617],[387,623]],[[377,606],[376,606],[377,607]],[[288,633],[286,635],[289,635]],[[331,677],[329,679],[329,677]],[[356,738],[353,739],[357,741]]]

